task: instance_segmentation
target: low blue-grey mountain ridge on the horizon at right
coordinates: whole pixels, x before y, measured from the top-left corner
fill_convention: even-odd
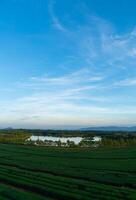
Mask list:
[[[136,126],[100,126],[81,128],[81,131],[136,131]]]

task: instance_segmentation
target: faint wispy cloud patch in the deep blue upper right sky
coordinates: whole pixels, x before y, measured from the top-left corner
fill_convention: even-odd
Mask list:
[[[90,16],[88,25],[80,27],[77,35],[78,52],[84,62],[97,71],[127,70],[135,67],[135,27],[127,33],[117,33],[111,24]],[[77,36],[78,37],[78,36]]]

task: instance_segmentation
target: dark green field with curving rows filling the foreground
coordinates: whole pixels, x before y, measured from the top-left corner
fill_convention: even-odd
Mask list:
[[[0,200],[136,199],[136,147],[0,144]]]

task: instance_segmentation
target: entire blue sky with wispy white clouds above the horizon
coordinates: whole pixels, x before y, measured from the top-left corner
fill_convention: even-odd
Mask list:
[[[136,125],[135,0],[1,0],[0,127]]]

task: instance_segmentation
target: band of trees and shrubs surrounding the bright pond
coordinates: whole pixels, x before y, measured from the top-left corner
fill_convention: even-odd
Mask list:
[[[33,132],[32,132],[33,131]],[[36,132],[37,131],[37,132]],[[36,134],[37,133],[37,134]],[[31,135],[43,136],[81,136],[83,140],[79,145],[75,145],[72,141],[62,143],[61,141],[29,141]],[[94,136],[100,136],[102,141],[92,141]],[[55,131],[55,130],[26,130],[26,129],[9,129],[0,130],[0,143],[14,143],[14,144],[29,144],[40,146],[58,146],[58,147],[125,147],[136,146],[136,133],[135,132],[103,132],[103,131]]]

